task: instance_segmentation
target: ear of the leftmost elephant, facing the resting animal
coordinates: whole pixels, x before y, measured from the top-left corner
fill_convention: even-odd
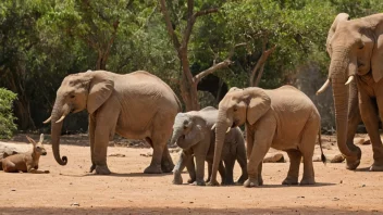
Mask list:
[[[92,114],[112,94],[114,81],[104,72],[88,73],[92,76],[92,78],[89,84],[87,110],[89,114]]]

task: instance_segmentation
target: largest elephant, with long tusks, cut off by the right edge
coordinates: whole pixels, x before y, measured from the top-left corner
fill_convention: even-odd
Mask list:
[[[360,115],[372,142],[374,162],[370,170],[383,170],[383,146],[376,117],[383,114],[383,13],[357,20],[348,17],[346,13],[338,14],[329,30],[329,79],[319,92],[332,83],[337,144],[346,156],[346,168],[356,169],[360,164],[361,151],[347,140],[347,85],[356,81]]]

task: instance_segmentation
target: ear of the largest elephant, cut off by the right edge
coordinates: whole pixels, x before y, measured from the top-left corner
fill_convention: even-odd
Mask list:
[[[383,77],[383,22],[375,28],[375,38],[372,55],[371,55],[371,69],[372,77],[378,83]]]

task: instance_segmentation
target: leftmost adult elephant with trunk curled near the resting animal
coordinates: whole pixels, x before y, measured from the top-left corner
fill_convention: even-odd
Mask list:
[[[89,113],[90,173],[108,175],[107,148],[114,134],[146,139],[153,156],[144,173],[170,173],[174,165],[166,141],[172,135],[174,117],[181,104],[173,90],[160,78],[144,71],[126,75],[107,71],[88,71],[64,78],[57,92],[51,116],[51,138],[55,161],[60,157],[60,134],[64,117],[83,110]]]

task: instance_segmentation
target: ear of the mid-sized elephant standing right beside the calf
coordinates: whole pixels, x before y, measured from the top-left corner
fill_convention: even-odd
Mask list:
[[[269,111],[271,100],[261,88],[251,87],[246,89],[246,91],[249,92],[246,118],[250,125],[254,125],[260,117],[262,117],[263,114]]]

